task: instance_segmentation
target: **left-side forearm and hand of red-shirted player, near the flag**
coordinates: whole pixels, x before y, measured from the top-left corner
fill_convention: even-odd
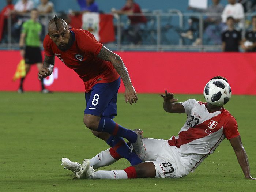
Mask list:
[[[44,65],[42,69],[38,72],[39,80],[52,74],[54,68],[54,57],[55,56],[47,56],[45,54]]]

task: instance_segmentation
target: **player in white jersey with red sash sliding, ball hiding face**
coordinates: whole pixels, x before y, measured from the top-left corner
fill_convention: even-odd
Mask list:
[[[223,79],[227,82],[221,76],[212,79]],[[186,113],[187,121],[178,136],[172,136],[169,140],[141,138],[146,150],[136,153],[143,163],[124,170],[95,171],[94,169],[108,166],[122,158],[114,148],[110,148],[90,160],[85,159],[82,165],[63,158],[65,168],[74,172],[77,178],[87,179],[180,178],[193,172],[227,138],[245,178],[255,180],[250,174],[248,157],[242,146],[237,122],[223,106],[195,99],[175,103],[178,100],[174,99],[172,93],[167,93],[167,90],[165,95],[160,95],[163,97],[163,109],[166,112]]]

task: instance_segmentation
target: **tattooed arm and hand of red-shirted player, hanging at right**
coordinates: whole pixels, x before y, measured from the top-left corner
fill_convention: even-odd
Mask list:
[[[129,102],[130,104],[136,103],[138,100],[136,91],[134,87],[132,86],[132,82],[130,79],[130,76],[128,74],[127,68],[124,65],[124,62],[122,61],[121,57],[109,49],[107,49],[105,46],[102,46],[99,54],[97,57],[105,60],[110,61],[118,74],[121,76],[124,86],[125,86],[125,102]]]

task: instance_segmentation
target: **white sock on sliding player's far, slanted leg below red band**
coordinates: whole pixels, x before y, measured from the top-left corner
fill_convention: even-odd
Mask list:
[[[114,159],[110,153],[109,149],[101,151],[98,155],[90,159],[90,166],[93,166],[93,169],[98,169],[99,167],[105,167],[113,164],[117,160]]]

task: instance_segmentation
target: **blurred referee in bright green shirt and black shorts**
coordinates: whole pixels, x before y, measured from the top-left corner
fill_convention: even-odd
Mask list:
[[[42,25],[37,21],[38,18],[38,10],[33,9],[30,12],[30,19],[23,23],[22,31],[20,34],[20,54],[25,60],[25,70],[26,75],[30,70],[31,65],[36,64],[38,71],[42,68],[42,55],[41,55],[41,42],[40,35],[42,31]],[[20,86],[18,89],[18,93],[23,93],[23,77],[20,79]],[[41,92],[42,93],[50,93],[49,90],[44,87],[44,80],[41,79]]]

